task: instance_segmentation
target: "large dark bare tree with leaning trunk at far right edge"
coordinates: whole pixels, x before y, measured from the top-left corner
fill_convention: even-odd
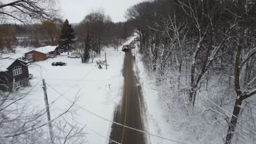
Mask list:
[[[232,137],[234,136],[234,132],[236,129],[236,124],[238,121],[238,116],[241,111],[241,105],[244,100],[248,99],[249,97],[252,97],[256,94],[256,75],[251,77],[251,79],[245,79],[246,85],[242,86],[242,75],[243,73],[247,73],[248,69],[244,69],[246,65],[252,65],[253,63],[249,63],[249,61],[252,59],[253,56],[256,55],[256,47],[246,47],[245,43],[245,37],[246,37],[246,29],[248,27],[248,16],[255,14],[253,12],[253,9],[256,5],[256,1],[237,1],[238,7],[237,11],[238,14],[235,14],[231,10],[229,10],[232,15],[234,15],[236,18],[240,19],[240,28],[238,30],[238,43],[237,43],[237,49],[236,49],[236,58],[235,58],[235,74],[234,74],[234,85],[235,85],[235,91],[236,91],[236,100],[235,105],[232,112],[232,117],[229,122],[229,128],[228,133],[226,134],[225,144],[230,144]],[[255,17],[254,17],[255,19]],[[251,49],[250,49],[251,48]],[[246,55],[242,57],[242,53],[245,52],[246,49],[249,49],[248,52],[246,52]],[[252,61],[255,61],[253,59]],[[255,65],[252,65],[252,67],[255,67]],[[254,68],[255,69],[255,68]]]

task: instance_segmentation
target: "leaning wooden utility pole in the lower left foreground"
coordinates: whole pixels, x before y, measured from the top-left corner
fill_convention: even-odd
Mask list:
[[[50,139],[51,139],[51,143],[54,144],[53,125],[51,125],[51,115],[50,115],[50,109],[49,109],[48,97],[47,97],[46,85],[45,85],[44,79],[43,79],[43,90],[44,90],[44,101],[45,101],[45,107],[46,107],[46,114],[47,114],[47,119],[48,119],[48,127],[50,130]]]

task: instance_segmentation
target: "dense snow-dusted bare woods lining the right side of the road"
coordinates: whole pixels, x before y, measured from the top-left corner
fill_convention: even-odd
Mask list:
[[[247,107],[255,105],[252,96],[256,94],[255,8],[255,0],[155,0],[133,5],[126,12],[141,38],[144,62],[164,89],[159,93],[169,101],[167,105],[174,103],[181,109],[177,114],[183,112],[186,118],[202,112],[195,107],[211,109],[203,113],[220,124],[210,125],[203,118],[201,123],[215,131],[212,137],[221,129],[225,136],[220,140],[225,143],[234,136],[238,143],[251,143],[255,137],[255,113]],[[206,130],[189,127],[191,133]]]

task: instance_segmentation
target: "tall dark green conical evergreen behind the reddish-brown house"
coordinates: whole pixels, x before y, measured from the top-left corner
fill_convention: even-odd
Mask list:
[[[74,49],[75,33],[74,28],[72,28],[67,19],[62,25],[60,38],[59,51],[68,52],[69,55],[69,51]]]

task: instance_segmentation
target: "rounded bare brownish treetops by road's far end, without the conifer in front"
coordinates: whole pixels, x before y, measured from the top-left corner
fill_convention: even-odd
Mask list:
[[[114,46],[117,49],[122,40],[130,37],[133,32],[131,23],[114,23],[102,9],[92,11],[75,27],[78,39],[85,39],[86,35],[91,36],[92,45],[97,53],[100,53],[105,46]]]

